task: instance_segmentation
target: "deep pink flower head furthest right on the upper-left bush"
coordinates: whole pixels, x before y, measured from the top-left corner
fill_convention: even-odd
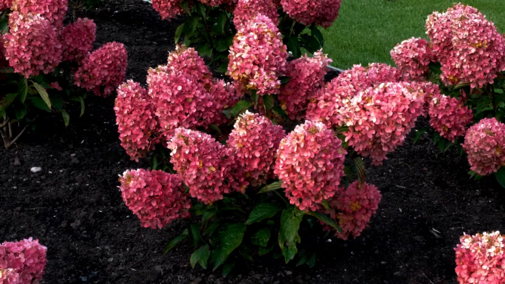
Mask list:
[[[128,55],[123,43],[108,42],[82,61],[75,72],[75,84],[107,97],[126,75]]]

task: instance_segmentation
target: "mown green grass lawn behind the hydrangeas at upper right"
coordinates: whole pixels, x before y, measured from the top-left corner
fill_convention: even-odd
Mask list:
[[[433,11],[444,11],[457,0],[342,0],[333,26],[323,31],[324,52],[331,65],[347,69],[370,62],[392,64],[389,52],[411,37],[425,37],[424,24]],[[465,0],[505,32],[504,0]]]

